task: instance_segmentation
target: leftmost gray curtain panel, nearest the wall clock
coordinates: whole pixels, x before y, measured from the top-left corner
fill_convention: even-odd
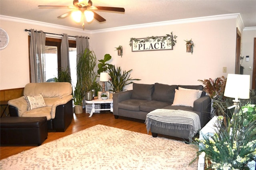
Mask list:
[[[45,78],[45,39],[43,31],[30,30],[30,75],[31,82],[46,82]]]

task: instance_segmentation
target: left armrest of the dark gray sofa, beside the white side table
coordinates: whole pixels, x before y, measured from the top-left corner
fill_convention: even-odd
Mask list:
[[[132,96],[132,90],[118,92],[113,94],[113,113],[118,115],[118,103],[124,100],[130,99]]]

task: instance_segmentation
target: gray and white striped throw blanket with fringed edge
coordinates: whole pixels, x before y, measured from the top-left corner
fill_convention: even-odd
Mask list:
[[[201,129],[199,116],[192,111],[156,109],[147,114],[146,128],[149,132],[150,126],[167,129],[189,130],[190,139]]]

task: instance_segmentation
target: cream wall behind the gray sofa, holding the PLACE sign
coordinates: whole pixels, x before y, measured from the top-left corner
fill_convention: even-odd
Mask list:
[[[132,52],[131,37],[165,36],[171,31],[177,35],[173,50]],[[123,70],[132,69],[132,78],[138,83],[200,84],[198,79],[216,78],[234,73],[236,52],[236,20],[216,20],[182,23],[97,33],[91,35],[91,47],[98,59],[106,53],[112,55],[112,64]],[[194,53],[186,53],[186,42],[195,44]],[[123,56],[114,47],[123,46]],[[226,66],[227,72],[222,68]],[[127,89],[131,89],[129,86]]]

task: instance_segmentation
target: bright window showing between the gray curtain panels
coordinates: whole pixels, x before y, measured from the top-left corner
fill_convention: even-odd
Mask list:
[[[30,37],[29,37],[30,41]],[[70,61],[70,72],[72,79],[72,86],[76,85],[76,41],[68,40],[69,42],[69,61]],[[29,42],[30,44],[30,42]],[[46,38],[45,43],[45,76],[46,82],[54,81],[54,77],[58,77],[58,70],[61,69],[61,57],[60,47],[61,39]],[[66,69],[66,68],[64,68]]]

